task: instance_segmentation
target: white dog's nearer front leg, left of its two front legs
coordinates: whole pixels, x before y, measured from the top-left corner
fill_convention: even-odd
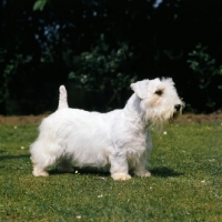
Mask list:
[[[131,175],[129,174],[129,165],[125,153],[111,154],[110,163],[111,163],[110,172],[113,180],[131,179]]]

